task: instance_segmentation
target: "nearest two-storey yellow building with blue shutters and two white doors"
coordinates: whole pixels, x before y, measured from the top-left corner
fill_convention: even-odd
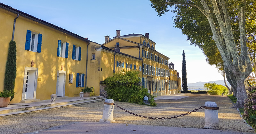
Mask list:
[[[86,86],[87,46],[96,43],[2,3],[0,22],[0,91],[12,38],[17,45],[15,96],[11,103],[50,99],[52,93],[79,95]]]

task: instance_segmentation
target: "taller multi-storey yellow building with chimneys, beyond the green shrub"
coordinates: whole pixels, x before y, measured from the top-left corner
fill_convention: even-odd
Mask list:
[[[169,58],[156,51],[156,43],[149,39],[149,33],[145,36],[142,34],[121,36],[120,32],[116,30],[114,39],[105,36],[105,43],[102,46],[142,59],[140,65],[142,85],[149,89],[152,95],[181,92],[180,77],[177,70],[174,70],[174,64],[169,65]]]

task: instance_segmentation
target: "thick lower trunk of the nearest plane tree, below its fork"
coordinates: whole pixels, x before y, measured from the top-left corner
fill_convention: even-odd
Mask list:
[[[243,78],[243,76],[240,76],[239,78],[236,77],[237,82],[237,101],[235,104],[236,108],[243,108],[244,107],[244,101],[247,98],[247,93],[245,89],[245,85],[247,84],[247,81]]]

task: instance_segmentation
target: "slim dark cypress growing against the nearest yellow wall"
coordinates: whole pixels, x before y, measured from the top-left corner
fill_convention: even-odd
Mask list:
[[[14,86],[16,79],[16,42],[11,40],[4,74],[4,91],[12,92],[11,100],[14,98]]]

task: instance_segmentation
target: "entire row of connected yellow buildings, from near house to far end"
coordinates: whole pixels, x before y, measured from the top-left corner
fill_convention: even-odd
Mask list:
[[[4,89],[9,42],[17,46],[15,96],[11,103],[79,96],[81,89],[94,87],[122,69],[140,72],[142,85],[152,95],[178,93],[180,77],[169,58],[156,51],[149,34],[130,34],[100,45],[61,27],[0,3],[0,91]],[[89,31],[88,31],[89,32]],[[170,65],[169,65],[170,66]]]

